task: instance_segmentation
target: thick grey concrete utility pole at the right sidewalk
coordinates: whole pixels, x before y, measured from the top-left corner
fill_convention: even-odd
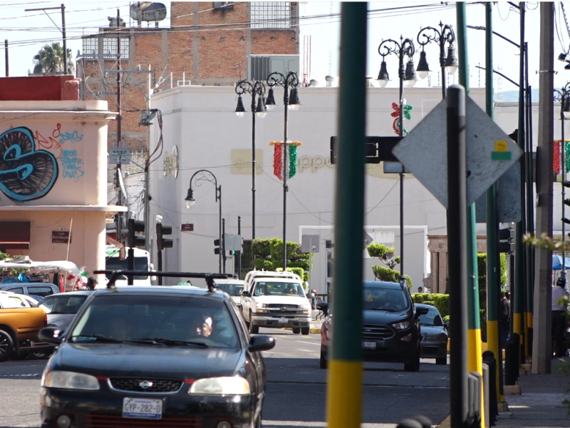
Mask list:
[[[540,4],[539,139],[537,146],[537,236],[552,236],[552,161],[554,157],[554,3]],[[552,250],[537,248],[534,277],[532,373],[551,372]]]

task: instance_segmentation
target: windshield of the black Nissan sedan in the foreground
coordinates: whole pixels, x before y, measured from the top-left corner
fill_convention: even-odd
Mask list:
[[[95,296],[68,339],[223,348],[239,345],[224,302],[181,295]]]

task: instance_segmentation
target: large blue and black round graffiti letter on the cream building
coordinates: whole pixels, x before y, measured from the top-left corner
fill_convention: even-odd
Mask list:
[[[25,127],[0,135],[0,190],[14,200],[33,200],[46,195],[58,178],[52,153],[36,150],[33,133]]]

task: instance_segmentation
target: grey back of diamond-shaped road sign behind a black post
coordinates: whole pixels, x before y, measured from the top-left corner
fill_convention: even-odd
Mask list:
[[[466,98],[467,205],[517,161],[514,141],[470,97]],[[447,208],[447,103],[443,100],[402,138],[392,153]]]

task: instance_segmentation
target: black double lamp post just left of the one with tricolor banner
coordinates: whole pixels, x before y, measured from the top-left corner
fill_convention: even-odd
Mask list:
[[[242,80],[236,84],[237,107],[235,113],[237,117],[244,117],[245,108],[242,102],[242,95],[249,93],[252,96],[252,241],[255,239],[255,116],[260,119],[267,114],[265,108],[265,85],[261,81]],[[255,97],[258,97],[257,103]],[[273,108],[273,106],[271,106]],[[271,109],[269,108],[269,109]],[[253,257],[253,252],[252,252]]]

